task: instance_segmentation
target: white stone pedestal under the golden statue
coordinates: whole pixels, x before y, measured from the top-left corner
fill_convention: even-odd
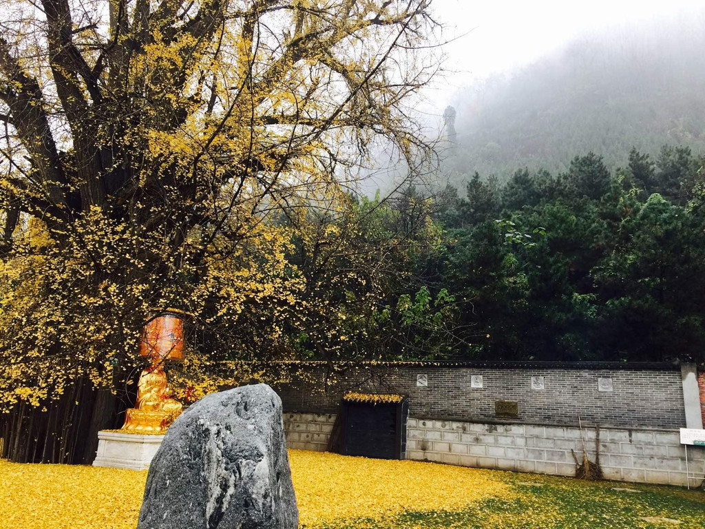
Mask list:
[[[145,470],[162,439],[164,435],[98,432],[98,453],[93,466]]]

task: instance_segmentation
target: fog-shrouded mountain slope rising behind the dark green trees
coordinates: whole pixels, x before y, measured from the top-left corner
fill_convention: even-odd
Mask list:
[[[705,11],[614,28],[463,90],[448,150],[453,180],[474,171],[504,180],[524,166],[563,171],[589,151],[615,168],[631,147],[705,150],[704,28]]]

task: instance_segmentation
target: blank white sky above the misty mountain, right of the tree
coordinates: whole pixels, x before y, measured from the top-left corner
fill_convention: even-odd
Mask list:
[[[474,78],[525,66],[586,33],[687,16],[701,11],[705,0],[434,0],[431,5],[447,26],[446,38],[469,32],[447,45],[444,66],[450,71],[426,92],[442,114],[453,93]]]

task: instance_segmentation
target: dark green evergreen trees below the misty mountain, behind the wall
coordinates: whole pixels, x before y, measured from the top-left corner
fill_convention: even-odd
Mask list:
[[[616,171],[588,153],[560,174],[475,173],[450,188],[443,250],[424,265],[454,300],[453,339],[466,343],[450,355],[705,358],[704,159],[672,146],[627,157]]]

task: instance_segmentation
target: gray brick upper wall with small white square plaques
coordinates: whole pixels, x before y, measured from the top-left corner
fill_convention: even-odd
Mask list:
[[[288,412],[336,413],[347,391],[409,396],[417,418],[532,425],[603,427],[685,427],[678,366],[658,369],[601,367],[439,367],[434,365],[357,365],[329,372],[309,364],[302,375],[278,387]],[[427,375],[428,386],[417,386]],[[482,389],[470,387],[482,375]],[[532,389],[531,377],[544,377],[545,389]],[[613,391],[599,391],[598,378],[611,378]],[[518,417],[495,415],[496,401],[516,401]]]

